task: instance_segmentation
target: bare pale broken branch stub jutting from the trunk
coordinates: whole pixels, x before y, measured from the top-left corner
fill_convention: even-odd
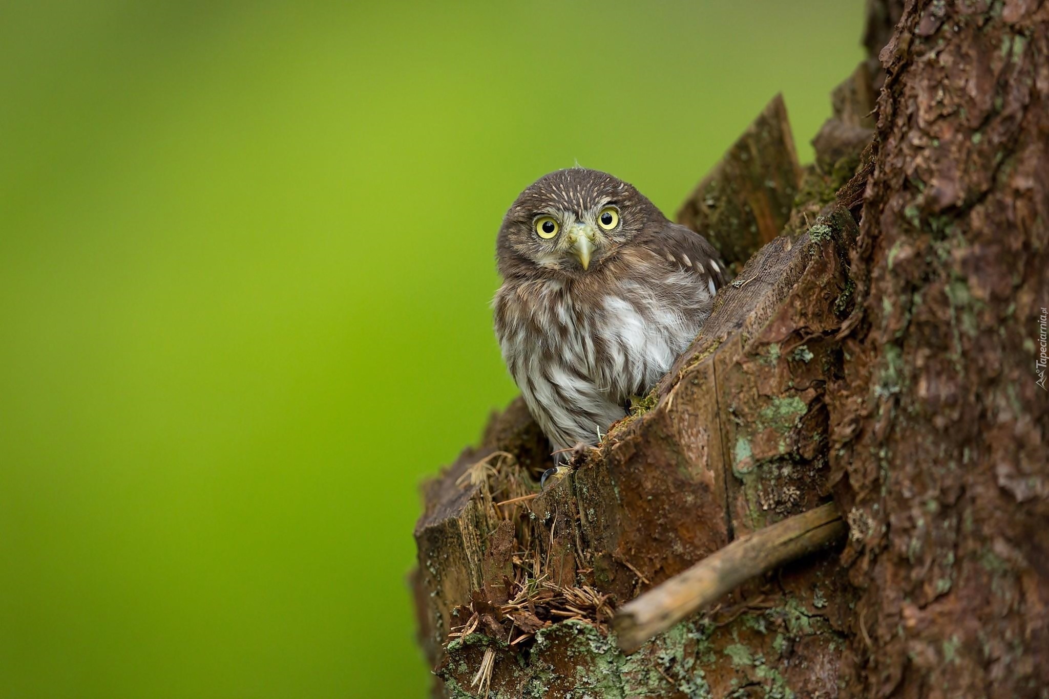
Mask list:
[[[613,620],[619,647],[633,653],[751,577],[829,544],[845,531],[838,506],[830,502],[741,537],[621,607]]]

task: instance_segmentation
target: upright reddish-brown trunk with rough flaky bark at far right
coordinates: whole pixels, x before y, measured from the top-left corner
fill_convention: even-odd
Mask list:
[[[1049,4],[911,2],[828,391],[854,696],[1045,696]]]

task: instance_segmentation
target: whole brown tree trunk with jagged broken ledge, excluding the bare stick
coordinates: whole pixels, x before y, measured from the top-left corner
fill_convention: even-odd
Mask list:
[[[816,163],[797,167],[776,100],[682,207],[749,261],[652,394],[541,493],[549,445],[520,400],[426,486],[413,587],[436,696],[1049,686],[1049,3],[869,16],[872,47],[900,18],[887,72],[835,91]],[[843,547],[617,648],[617,607],[832,496]]]

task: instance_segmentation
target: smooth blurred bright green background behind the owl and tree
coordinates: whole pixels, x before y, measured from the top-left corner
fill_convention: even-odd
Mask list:
[[[862,1],[0,4],[0,696],[423,697],[418,484],[516,194],[672,215]]]

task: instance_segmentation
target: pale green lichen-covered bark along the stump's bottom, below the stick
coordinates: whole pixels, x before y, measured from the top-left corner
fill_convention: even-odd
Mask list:
[[[470,685],[476,660],[491,647],[499,655],[489,699],[790,699],[811,692],[806,675],[815,656],[809,653],[840,645],[841,635],[825,616],[788,595],[782,605],[745,610],[720,624],[692,617],[631,655],[619,650],[614,635],[572,619],[540,630],[527,652],[475,633],[449,646],[449,660],[440,674],[447,696],[476,697]],[[801,648],[807,650],[799,652]]]

